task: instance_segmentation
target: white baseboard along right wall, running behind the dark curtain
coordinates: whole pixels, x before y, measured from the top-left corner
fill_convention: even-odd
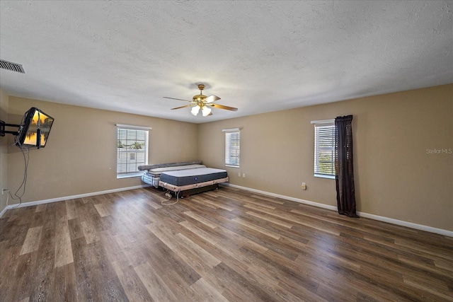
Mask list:
[[[226,182],[222,183],[222,185],[225,185],[227,187],[236,187],[237,189],[246,190],[246,191],[250,191],[250,192],[256,192],[256,193],[260,193],[260,194],[267,195],[267,196],[277,197],[277,198],[281,198],[281,199],[287,199],[287,200],[291,200],[292,202],[300,202],[302,204],[309,204],[314,207],[337,211],[337,207],[329,206],[328,204],[320,204],[319,202],[310,202],[309,200],[289,197],[289,196],[280,195],[280,194],[274,194],[274,193],[265,192],[265,191],[261,191],[261,190],[255,190],[255,189],[251,189],[248,187],[241,187],[239,185],[231,185]],[[367,214],[367,213],[360,212],[360,211],[357,211],[357,215],[359,215],[360,217],[365,217],[365,218],[369,218],[369,219],[373,219],[373,220],[377,220],[377,221],[383,221],[383,222],[387,222],[387,223],[396,224],[398,226],[406,226],[408,228],[415,228],[416,230],[420,230],[420,231],[427,231],[430,233],[436,233],[436,234],[440,234],[443,236],[453,237],[453,231],[444,230],[442,228],[433,228],[432,226],[423,226],[423,224],[417,224],[417,223],[412,223],[412,222],[408,222],[408,221],[392,219],[392,218],[378,216],[378,215],[374,215],[374,214]]]

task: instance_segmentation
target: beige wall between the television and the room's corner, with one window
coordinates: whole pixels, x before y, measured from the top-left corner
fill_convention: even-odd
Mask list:
[[[23,202],[142,185],[140,178],[116,179],[117,123],[152,127],[149,132],[149,163],[198,159],[197,124],[13,96],[9,97],[8,109],[11,122],[19,123],[24,112],[31,107],[40,108],[54,117],[55,122],[45,148],[30,149]],[[10,146],[10,189],[17,190],[21,185],[23,168],[20,149]]]

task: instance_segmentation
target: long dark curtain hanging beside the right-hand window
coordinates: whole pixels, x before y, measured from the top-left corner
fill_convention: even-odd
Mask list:
[[[355,213],[354,165],[352,163],[352,115],[335,119],[335,182],[338,213]]]

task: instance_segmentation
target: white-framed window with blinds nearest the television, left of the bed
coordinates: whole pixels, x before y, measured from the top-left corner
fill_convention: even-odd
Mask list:
[[[142,175],[138,166],[148,164],[149,129],[117,124],[117,178]]]

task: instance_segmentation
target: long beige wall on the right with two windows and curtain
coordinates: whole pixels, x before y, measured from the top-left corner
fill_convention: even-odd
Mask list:
[[[453,85],[438,86],[200,124],[198,149],[222,168],[222,129],[243,127],[231,184],[336,206],[335,180],[313,175],[310,122],[354,115],[357,210],[453,231],[453,154],[427,152],[453,149],[452,113]]]

